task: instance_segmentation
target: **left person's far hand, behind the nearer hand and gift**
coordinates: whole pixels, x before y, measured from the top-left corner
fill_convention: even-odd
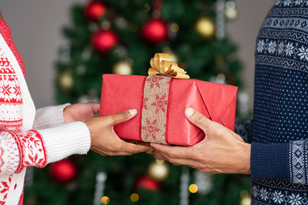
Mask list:
[[[99,110],[100,104],[96,102],[73,104],[64,108],[64,121],[65,123],[75,121],[87,122],[95,118],[95,114],[99,112]]]

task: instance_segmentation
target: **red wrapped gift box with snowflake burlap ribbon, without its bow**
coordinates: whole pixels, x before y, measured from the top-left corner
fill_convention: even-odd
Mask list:
[[[191,107],[234,130],[237,87],[163,75],[104,74],[99,116],[137,109],[131,120],[114,126],[122,139],[194,145],[204,133],[185,115]]]

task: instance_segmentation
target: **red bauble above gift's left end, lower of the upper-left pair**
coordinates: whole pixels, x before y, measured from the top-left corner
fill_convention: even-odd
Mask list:
[[[99,30],[92,36],[93,47],[101,53],[107,53],[112,46],[118,43],[119,38],[112,30]]]

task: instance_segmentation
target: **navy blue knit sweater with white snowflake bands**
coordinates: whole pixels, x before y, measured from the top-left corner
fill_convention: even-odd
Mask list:
[[[252,204],[308,204],[308,0],[277,0],[263,22],[252,124]]]

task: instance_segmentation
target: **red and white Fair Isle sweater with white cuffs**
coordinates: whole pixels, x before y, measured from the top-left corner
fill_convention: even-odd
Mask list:
[[[0,205],[23,203],[27,166],[85,154],[91,144],[84,123],[64,124],[68,104],[35,112],[25,76],[11,30],[0,20]]]

